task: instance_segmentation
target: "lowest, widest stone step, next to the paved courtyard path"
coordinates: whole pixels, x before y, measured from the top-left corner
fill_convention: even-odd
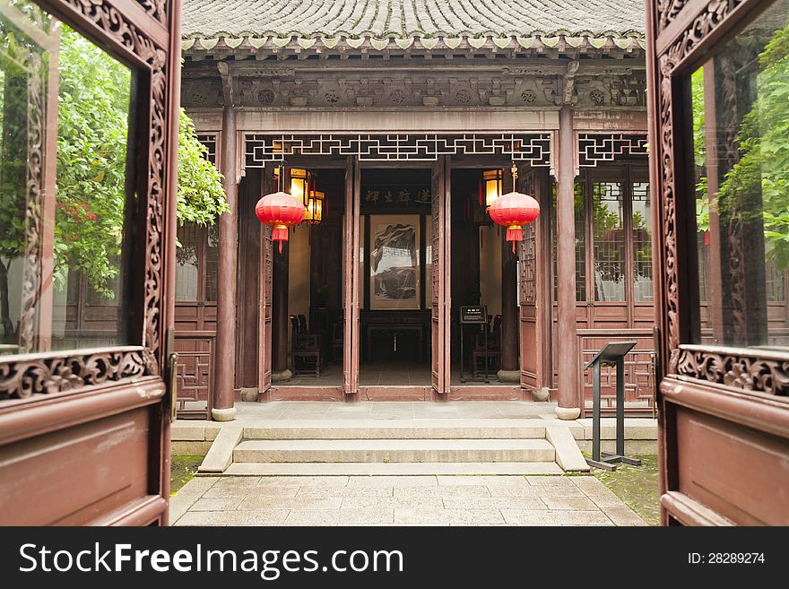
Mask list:
[[[557,463],[232,463],[232,476],[412,476],[563,474]],[[203,473],[201,473],[203,475]],[[213,475],[216,476],[216,475]]]

